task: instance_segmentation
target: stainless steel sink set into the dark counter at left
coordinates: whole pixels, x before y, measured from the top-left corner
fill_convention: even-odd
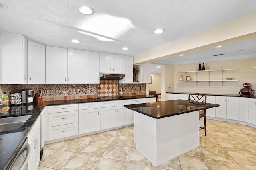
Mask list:
[[[31,115],[0,118],[0,132],[11,131],[22,127]]]

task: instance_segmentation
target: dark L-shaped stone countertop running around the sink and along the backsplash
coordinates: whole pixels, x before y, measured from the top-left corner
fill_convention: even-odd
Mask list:
[[[86,102],[103,102],[109,100],[126,100],[136,98],[152,98],[150,95],[136,95],[136,96],[122,96],[113,98],[88,98],[88,99],[74,99],[74,100],[56,100],[42,103],[33,103],[32,105],[10,106],[10,110],[5,113],[0,113],[0,118],[14,117],[20,115],[32,115],[26,123],[19,129],[12,131],[0,132],[0,170],[6,168],[15,154],[20,149],[26,136],[30,132],[34,122],[42,112],[45,106],[63,105],[63,104],[79,104]],[[4,167],[5,166],[5,167]]]

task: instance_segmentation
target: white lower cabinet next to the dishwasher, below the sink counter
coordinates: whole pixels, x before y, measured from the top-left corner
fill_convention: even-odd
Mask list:
[[[40,123],[39,116],[28,134],[28,144],[31,147],[30,157],[28,160],[28,170],[37,170],[40,162]]]

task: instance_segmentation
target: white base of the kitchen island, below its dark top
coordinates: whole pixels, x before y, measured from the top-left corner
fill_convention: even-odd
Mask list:
[[[136,150],[154,166],[199,147],[199,111],[161,119],[134,113]]]

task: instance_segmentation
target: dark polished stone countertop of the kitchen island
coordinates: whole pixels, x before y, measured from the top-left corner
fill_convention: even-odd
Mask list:
[[[124,105],[124,107],[153,117],[155,119],[160,119],[164,117],[170,117],[174,115],[180,115],[184,113],[189,113],[192,111],[198,111],[202,109],[209,109],[212,107],[218,107],[219,104],[206,103],[194,104],[188,102],[188,100],[166,100],[161,102],[150,102],[143,104],[130,104]]]

